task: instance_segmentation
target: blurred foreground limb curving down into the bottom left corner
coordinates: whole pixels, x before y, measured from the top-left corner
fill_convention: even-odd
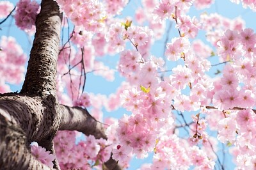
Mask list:
[[[16,116],[12,115],[14,111],[22,109],[19,108],[23,105],[22,102],[7,100],[7,98],[0,101],[3,104],[0,104],[0,169],[50,169],[31,155],[27,138],[29,133],[24,132],[19,125],[19,119],[17,120]],[[4,105],[4,102],[6,102],[5,104],[12,103],[12,105]],[[10,109],[11,107],[15,108]],[[28,110],[24,109],[24,112],[28,112]],[[19,113],[22,114],[22,112]]]

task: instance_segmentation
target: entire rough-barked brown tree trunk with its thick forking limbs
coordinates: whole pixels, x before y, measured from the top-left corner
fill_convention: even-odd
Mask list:
[[[58,130],[78,130],[106,139],[102,123],[86,109],[58,104],[56,66],[61,13],[56,1],[42,0],[26,78],[20,93],[0,94],[0,170],[50,169],[30,153],[32,141],[54,153]],[[112,158],[109,169],[120,169]],[[54,168],[60,169],[58,162]]]

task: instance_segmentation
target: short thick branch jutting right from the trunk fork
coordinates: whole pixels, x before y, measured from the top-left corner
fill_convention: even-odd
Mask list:
[[[59,130],[77,130],[95,138],[107,139],[102,123],[95,120],[86,109],[60,105],[61,124]]]

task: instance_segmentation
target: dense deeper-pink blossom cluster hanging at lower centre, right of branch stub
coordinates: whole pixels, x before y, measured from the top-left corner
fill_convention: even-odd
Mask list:
[[[132,151],[136,153],[136,157],[144,158],[147,157],[148,151],[153,150],[157,139],[156,132],[163,126],[163,118],[170,112],[170,102],[167,100],[169,96],[166,93],[162,88],[150,93],[136,88],[124,91],[123,106],[133,114],[125,115],[118,121],[117,133],[121,145],[118,151]],[[115,152],[116,150],[113,151],[114,155]]]

